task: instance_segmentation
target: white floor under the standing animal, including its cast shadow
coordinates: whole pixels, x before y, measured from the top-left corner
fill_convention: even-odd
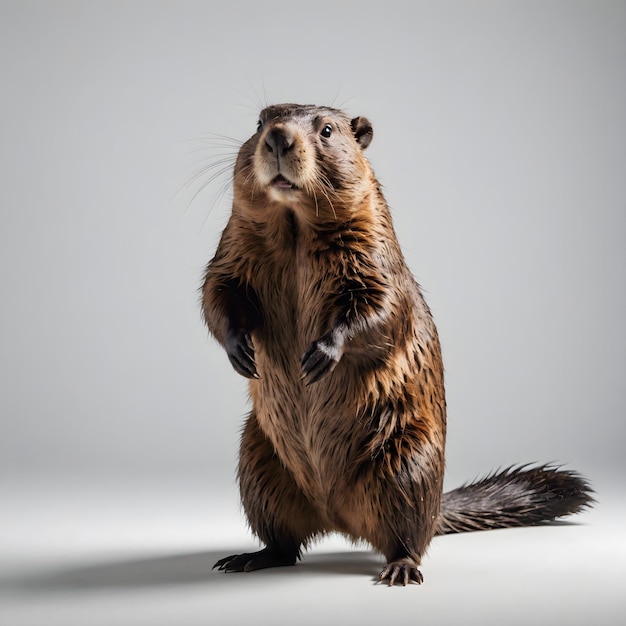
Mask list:
[[[626,623],[615,490],[575,523],[438,537],[407,588],[374,584],[382,559],[340,537],[295,567],[212,571],[255,548],[234,488],[20,481],[1,496],[2,626]]]

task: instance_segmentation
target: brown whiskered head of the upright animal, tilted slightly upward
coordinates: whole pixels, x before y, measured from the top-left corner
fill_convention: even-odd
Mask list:
[[[235,204],[256,213],[289,207],[311,219],[337,217],[371,189],[373,174],[363,150],[372,136],[366,118],[350,119],[338,109],[267,107],[256,133],[239,151]]]

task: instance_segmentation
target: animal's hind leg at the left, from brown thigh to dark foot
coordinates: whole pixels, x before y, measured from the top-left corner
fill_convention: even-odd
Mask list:
[[[251,572],[294,565],[302,547],[325,532],[317,511],[280,463],[254,412],[241,437],[239,486],[250,528],[266,547],[227,556],[214,567],[226,572]]]

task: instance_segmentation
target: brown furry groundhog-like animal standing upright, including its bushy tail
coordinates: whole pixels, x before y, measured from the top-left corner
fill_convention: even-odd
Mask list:
[[[422,582],[435,534],[553,520],[591,502],[573,472],[508,469],[442,495],[437,329],[363,154],[363,117],[282,104],[239,151],[232,215],[202,288],[211,333],[250,379],[239,482],[265,548],[226,571],[293,565],[337,531]]]

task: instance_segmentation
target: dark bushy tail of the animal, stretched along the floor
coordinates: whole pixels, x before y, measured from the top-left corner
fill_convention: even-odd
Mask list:
[[[551,522],[591,506],[592,493],[582,476],[554,465],[509,467],[444,493],[437,534]]]

